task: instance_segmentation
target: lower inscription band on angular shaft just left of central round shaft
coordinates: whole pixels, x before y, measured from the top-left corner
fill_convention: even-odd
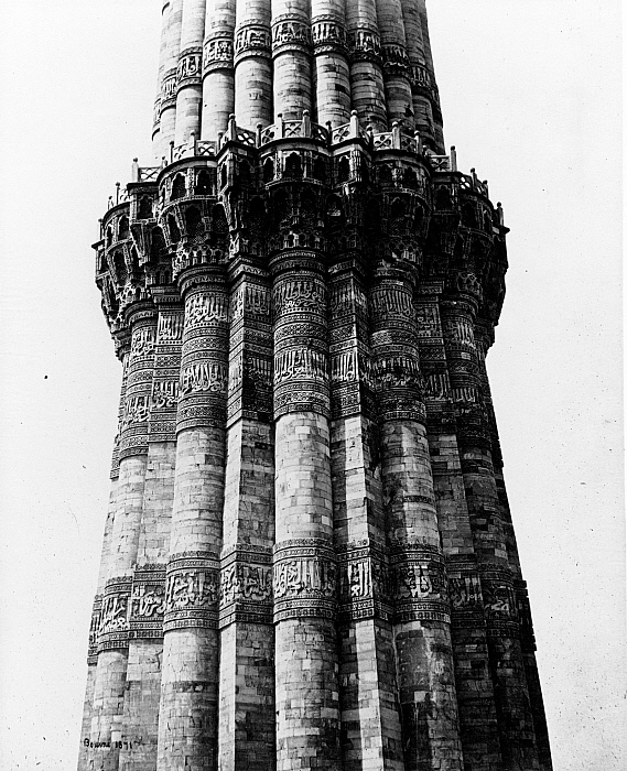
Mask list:
[[[272,623],[272,552],[238,544],[220,561],[220,629],[236,621]]]

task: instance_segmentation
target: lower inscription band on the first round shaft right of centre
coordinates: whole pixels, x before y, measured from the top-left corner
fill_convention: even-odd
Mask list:
[[[451,622],[444,557],[424,544],[402,544],[390,556],[394,621]]]

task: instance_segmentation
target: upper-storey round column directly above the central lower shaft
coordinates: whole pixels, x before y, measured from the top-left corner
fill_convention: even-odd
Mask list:
[[[310,0],[272,0],[274,120],[300,120],[312,110]]]

